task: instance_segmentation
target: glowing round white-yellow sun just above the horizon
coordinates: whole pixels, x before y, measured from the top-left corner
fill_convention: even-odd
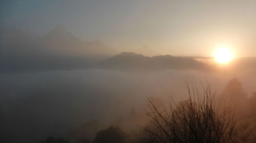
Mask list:
[[[232,59],[232,51],[226,47],[221,47],[215,51],[215,59],[217,62],[225,64]]]

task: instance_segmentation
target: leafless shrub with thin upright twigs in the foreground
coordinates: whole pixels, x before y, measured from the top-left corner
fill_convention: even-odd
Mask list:
[[[138,142],[236,142],[233,137],[233,110],[218,110],[209,84],[198,88],[187,86],[189,99],[154,104],[148,99],[146,113],[150,123],[142,127]]]

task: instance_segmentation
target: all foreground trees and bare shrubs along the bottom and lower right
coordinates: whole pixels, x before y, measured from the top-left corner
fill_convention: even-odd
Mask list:
[[[91,141],[86,139],[86,135],[72,141],[77,143],[256,142],[254,134],[256,93],[253,93],[248,100],[242,90],[241,82],[237,79],[230,80],[218,100],[216,95],[212,94],[210,85],[203,87],[202,90],[188,85],[187,90],[188,99],[184,101],[167,102],[158,98],[148,98],[143,113],[136,114],[134,109],[131,110],[130,114],[133,117],[127,118],[128,121],[134,124],[141,118],[147,121],[143,125],[137,124],[139,129],[133,128],[133,131],[124,132],[117,126],[111,126],[98,131]],[[42,143],[55,142],[70,141],[54,137],[42,141]]]

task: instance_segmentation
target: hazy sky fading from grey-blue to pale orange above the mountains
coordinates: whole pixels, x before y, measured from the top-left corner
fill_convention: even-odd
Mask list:
[[[1,26],[44,35],[56,24],[126,51],[210,55],[227,46],[256,56],[256,1],[0,1]]]

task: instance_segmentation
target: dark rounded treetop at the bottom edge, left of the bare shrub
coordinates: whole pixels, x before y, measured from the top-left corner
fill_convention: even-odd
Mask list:
[[[122,143],[125,142],[125,138],[125,133],[119,127],[111,126],[108,129],[99,131],[93,143]]]

